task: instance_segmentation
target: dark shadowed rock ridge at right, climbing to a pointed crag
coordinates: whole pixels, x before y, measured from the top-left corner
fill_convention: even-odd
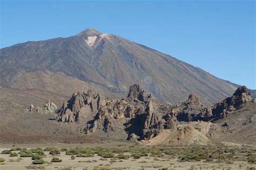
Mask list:
[[[201,105],[197,95],[191,94],[187,101],[173,107],[171,112],[177,115],[178,121],[214,121],[225,117],[231,111],[254,102],[255,99],[251,97],[251,93],[245,86],[242,86],[235,90],[231,97],[207,108]]]

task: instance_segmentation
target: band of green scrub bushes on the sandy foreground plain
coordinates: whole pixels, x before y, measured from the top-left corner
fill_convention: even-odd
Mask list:
[[[147,147],[147,146],[117,146],[117,147],[74,147],[74,148],[11,148],[3,150],[2,155],[9,157],[18,157],[18,159],[6,160],[0,158],[2,165],[5,162],[22,162],[22,158],[30,157],[31,164],[26,166],[41,167],[49,166],[50,164],[58,164],[63,162],[63,155],[70,155],[69,160],[82,163],[96,163],[98,161],[106,161],[106,164],[98,164],[94,169],[107,169],[110,165],[115,165],[117,162],[130,161],[131,164],[136,162],[142,164],[140,168],[157,168],[171,169],[175,167],[175,163],[169,163],[169,167],[154,165],[156,161],[165,161],[168,165],[169,161],[176,162],[204,162],[205,164],[233,164],[235,161],[245,162],[246,168],[253,169],[256,164],[256,148],[253,147]],[[0,154],[0,157],[1,157]],[[44,159],[51,160],[45,161]],[[76,160],[78,159],[79,160]],[[81,160],[85,159],[86,160]],[[90,159],[91,158],[91,159]],[[65,162],[66,160],[64,160]],[[178,167],[177,167],[178,168]],[[193,167],[190,167],[193,169]],[[175,168],[174,168],[175,169]]]

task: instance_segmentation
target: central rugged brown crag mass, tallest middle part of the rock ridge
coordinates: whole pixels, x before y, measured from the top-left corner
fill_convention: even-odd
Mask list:
[[[124,127],[127,139],[146,140],[157,136],[164,129],[167,108],[134,84],[126,99],[107,101],[100,106],[95,118],[84,128],[85,133],[97,130],[117,131]],[[176,124],[172,124],[172,127]],[[169,126],[170,128],[170,126]]]

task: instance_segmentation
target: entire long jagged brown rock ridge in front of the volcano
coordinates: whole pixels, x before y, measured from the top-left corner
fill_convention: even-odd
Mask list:
[[[195,94],[188,96],[185,102],[170,107],[151,97],[139,84],[133,84],[127,97],[122,100],[102,99],[91,90],[87,93],[73,94],[68,103],[63,103],[58,111],[57,120],[68,123],[83,122],[80,124],[81,130],[86,134],[96,131],[97,134],[105,132],[107,135],[126,132],[123,137],[139,140],[140,143],[158,143],[159,136],[164,136],[163,133],[168,132],[166,140],[172,143],[187,140],[191,144],[206,144],[207,138],[199,133],[205,128],[181,127],[177,122],[214,120],[250,102],[254,102],[250,93],[246,87],[241,87],[232,97],[213,107],[204,108]],[[188,135],[187,132],[197,135]],[[161,144],[164,142],[161,140]]]

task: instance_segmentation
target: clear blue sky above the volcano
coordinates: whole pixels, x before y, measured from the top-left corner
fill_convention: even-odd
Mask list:
[[[255,1],[0,1],[0,48],[93,27],[256,89]]]

